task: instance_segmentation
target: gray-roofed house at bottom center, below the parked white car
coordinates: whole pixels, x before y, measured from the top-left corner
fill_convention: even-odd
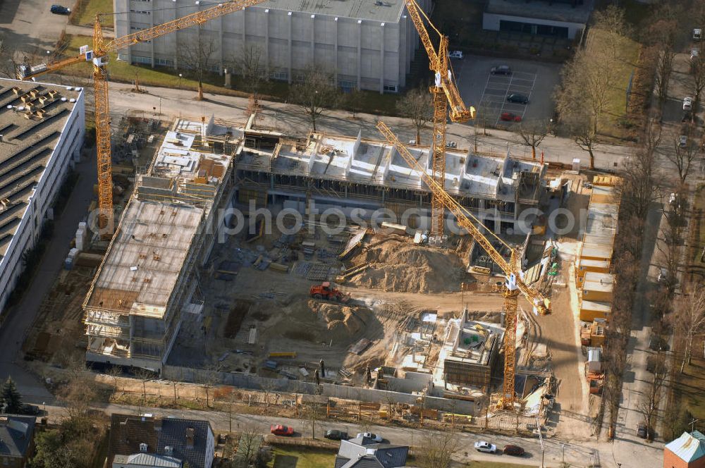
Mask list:
[[[406,465],[409,448],[405,445],[376,443],[367,437],[341,441],[335,468],[396,468]]]

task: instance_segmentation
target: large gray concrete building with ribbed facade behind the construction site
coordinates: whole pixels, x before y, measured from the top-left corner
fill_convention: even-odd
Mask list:
[[[419,5],[428,11],[430,0]],[[213,6],[185,0],[114,0],[116,35],[122,36]],[[270,0],[151,42],[119,51],[118,59],[179,68],[178,50],[214,43],[212,70],[233,68],[245,47],[261,54],[274,80],[295,82],[309,66],[333,73],[348,89],[398,92],[418,46],[403,0]],[[237,74],[238,70],[233,70]]]

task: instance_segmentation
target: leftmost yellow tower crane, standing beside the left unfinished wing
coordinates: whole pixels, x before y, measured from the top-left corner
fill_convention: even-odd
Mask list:
[[[118,37],[107,42],[103,37],[100,16],[96,15],[93,25],[93,49],[83,46],[80,54],[61,61],[42,63],[37,66],[22,65],[18,67],[18,80],[29,80],[44,73],[61,70],[75,63],[92,62],[93,87],[95,90],[95,133],[98,157],[98,208],[99,228],[104,237],[110,237],[114,230],[113,220],[113,178],[110,159],[110,113],[108,102],[108,75],[106,65],[108,56],[120,49],[131,47],[140,42],[151,41],[171,32],[187,27],[202,25],[209,20],[244,10],[247,6],[262,3],[264,0],[234,0],[223,2],[203,11],[176,18],[161,25],[149,27],[133,34]]]

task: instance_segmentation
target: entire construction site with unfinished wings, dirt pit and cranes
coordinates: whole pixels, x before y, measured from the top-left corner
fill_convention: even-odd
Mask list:
[[[128,116],[118,141],[98,137],[109,211],[78,226],[27,354],[53,363],[73,343],[94,369],[394,401],[517,430],[587,419],[618,181],[579,161],[447,148],[448,116],[474,109],[447,73],[447,37],[436,50],[414,5],[436,76],[429,147],[382,122],[379,140],[302,135],[258,120],[257,106],[244,123]],[[572,228],[546,215],[559,208]],[[565,433],[584,434],[584,419]]]

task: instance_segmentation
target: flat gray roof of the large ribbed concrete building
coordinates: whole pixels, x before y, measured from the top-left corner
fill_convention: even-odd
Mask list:
[[[269,0],[257,4],[257,8],[388,22],[399,20],[404,7],[403,0]]]

